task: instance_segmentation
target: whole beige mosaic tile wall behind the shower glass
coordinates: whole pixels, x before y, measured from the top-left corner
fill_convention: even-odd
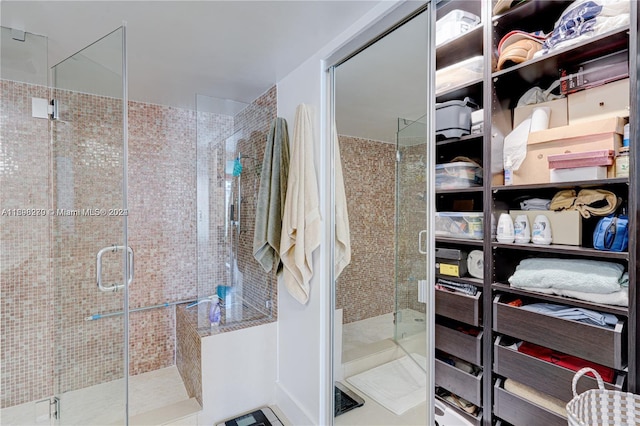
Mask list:
[[[121,102],[56,93],[66,113],[51,124],[56,143],[50,144],[49,122],[31,118],[31,98],[49,98],[49,89],[1,84],[0,207],[120,208]],[[275,88],[256,101],[261,103],[275,114]],[[256,123],[265,117],[256,117],[248,114],[240,129],[252,143],[264,131]],[[196,118],[194,111],[129,103],[131,309],[199,293]],[[233,129],[233,118],[205,121],[216,132]],[[122,309],[121,293],[99,292],[95,284],[96,253],[121,243],[122,222],[118,216],[0,217],[2,407],[122,377],[122,317],[85,320]],[[107,285],[121,280],[120,256],[103,258]],[[65,316],[53,315],[54,309]],[[131,313],[131,374],[173,365],[175,323],[172,307]]]

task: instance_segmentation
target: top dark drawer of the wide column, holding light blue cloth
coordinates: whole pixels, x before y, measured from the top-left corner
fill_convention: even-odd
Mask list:
[[[526,311],[493,299],[493,329],[527,342],[622,370],[625,367],[625,324],[613,329]]]

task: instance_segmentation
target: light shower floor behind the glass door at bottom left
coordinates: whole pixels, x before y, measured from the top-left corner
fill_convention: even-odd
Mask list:
[[[197,425],[200,406],[190,399],[175,366],[131,377],[129,380],[131,425]],[[123,424],[124,380],[66,392],[61,396],[61,425]],[[3,426],[49,425],[35,403],[0,411]]]

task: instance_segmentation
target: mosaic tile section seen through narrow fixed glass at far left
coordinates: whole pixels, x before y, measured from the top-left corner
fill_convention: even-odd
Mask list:
[[[49,91],[6,80],[0,89],[0,209],[48,208],[49,124],[31,118],[31,98]],[[54,346],[41,344],[54,331],[50,252],[49,216],[0,215],[2,407],[52,393]]]

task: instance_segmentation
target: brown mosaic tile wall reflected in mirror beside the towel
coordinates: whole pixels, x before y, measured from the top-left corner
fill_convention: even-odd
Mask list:
[[[393,312],[395,145],[340,136],[351,264],[336,283],[336,307],[350,323]]]

